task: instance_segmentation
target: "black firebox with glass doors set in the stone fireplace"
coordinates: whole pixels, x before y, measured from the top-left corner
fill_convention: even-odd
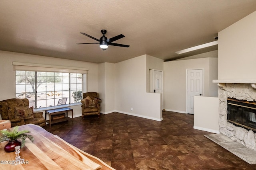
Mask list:
[[[256,102],[228,98],[228,122],[256,133]]]

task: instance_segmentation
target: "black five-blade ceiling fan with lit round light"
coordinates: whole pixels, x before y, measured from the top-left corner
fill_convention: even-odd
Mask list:
[[[100,39],[96,39],[86,33],[81,33],[87,37],[90,37],[92,39],[95,39],[96,41],[99,41],[98,43],[77,43],[77,44],[100,44],[100,48],[102,48],[102,50],[106,50],[108,48],[108,45],[113,45],[113,46],[118,46],[118,47],[130,47],[130,45],[123,45],[123,44],[117,44],[117,43],[112,43],[113,41],[116,41],[118,39],[121,39],[124,37],[124,35],[120,34],[117,35],[115,37],[112,37],[110,39],[108,39],[107,37],[105,37],[105,34],[107,33],[107,30],[102,29],[101,33],[103,34],[102,37],[100,37]]]

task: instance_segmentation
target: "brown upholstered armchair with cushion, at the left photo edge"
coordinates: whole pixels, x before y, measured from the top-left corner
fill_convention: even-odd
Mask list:
[[[43,112],[34,112],[29,108],[28,99],[7,99],[0,101],[0,114],[3,120],[10,120],[11,126],[35,124],[41,127],[46,125]]]

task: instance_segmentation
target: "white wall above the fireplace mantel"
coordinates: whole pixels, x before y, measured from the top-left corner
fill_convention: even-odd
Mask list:
[[[256,12],[218,33],[218,79],[256,79]]]

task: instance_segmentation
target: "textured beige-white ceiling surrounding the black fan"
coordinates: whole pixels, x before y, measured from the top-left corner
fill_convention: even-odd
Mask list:
[[[148,54],[163,60],[214,41],[218,32],[256,10],[256,0],[0,0],[0,50],[94,63],[117,63]],[[102,51],[84,32],[129,48]]]

